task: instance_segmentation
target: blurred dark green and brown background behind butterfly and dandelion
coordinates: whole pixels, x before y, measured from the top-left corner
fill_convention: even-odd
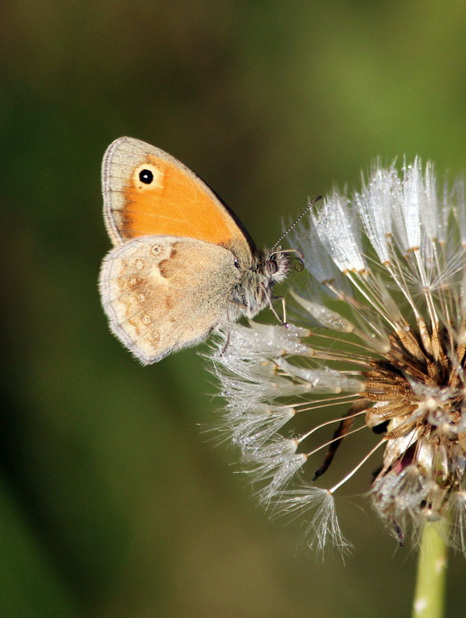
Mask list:
[[[120,135],[167,150],[259,245],[308,196],[357,186],[377,155],[454,175],[465,3],[16,0],[0,12],[1,617],[408,616],[415,553],[357,497],[370,466],[337,502],[353,557],[316,560],[298,522],[256,506],[237,453],[202,433],[220,402],[197,352],[142,368],[111,336],[96,286],[110,248],[100,162]],[[464,607],[464,572],[454,557],[448,615]]]

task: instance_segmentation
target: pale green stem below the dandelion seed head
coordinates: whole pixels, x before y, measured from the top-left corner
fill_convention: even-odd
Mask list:
[[[425,525],[417,562],[417,584],[412,618],[442,618],[445,610],[447,546],[439,524]]]

